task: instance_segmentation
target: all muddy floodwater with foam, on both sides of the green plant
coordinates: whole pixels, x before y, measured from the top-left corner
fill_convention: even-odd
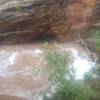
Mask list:
[[[82,79],[94,64],[79,44],[50,46],[72,54],[74,60],[70,66],[77,69],[76,79]],[[42,100],[41,94],[48,91],[41,65],[44,52],[43,43],[0,46],[0,100]]]

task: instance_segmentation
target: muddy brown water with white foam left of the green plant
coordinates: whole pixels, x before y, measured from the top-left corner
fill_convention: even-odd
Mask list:
[[[40,65],[42,55],[38,44],[0,46],[0,94],[6,95],[4,100],[8,100],[7,95],[32,100],[33,94],[47,89]]]

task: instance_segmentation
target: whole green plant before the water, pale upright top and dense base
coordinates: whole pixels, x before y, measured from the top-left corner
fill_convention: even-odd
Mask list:
[[[91,100],[91,89],[83,81],[75,80],[75,70],[68,67],[69,56],[66,52],[48,51],[45,59],[49,81],[53,85],[59,84],[52,97],[45,95],[43,100]]]

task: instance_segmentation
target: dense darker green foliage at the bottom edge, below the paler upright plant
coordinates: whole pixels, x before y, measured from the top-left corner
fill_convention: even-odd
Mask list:
[[[91,100],[91,90],[83,83],[67,80],[52,97],[44,97],[44,100]]]

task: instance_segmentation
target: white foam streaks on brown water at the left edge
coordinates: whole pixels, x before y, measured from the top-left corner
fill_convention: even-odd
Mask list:
[[[40,55],[43,54],[43,51],[40,49],[31,49],[31,50],[22,50],[22,51],[15,51],[15,52],[7,52],[5,50],[2,50],[0,52],[0,76],[6,77],[7,75],[12,75],[16,73],[23,72],[24,70],[21,71],[14,71],[14,72],[9,72],[8,66],[12,65],[16,62],[16,57],[19,54],[31,54],[31,55]]]

